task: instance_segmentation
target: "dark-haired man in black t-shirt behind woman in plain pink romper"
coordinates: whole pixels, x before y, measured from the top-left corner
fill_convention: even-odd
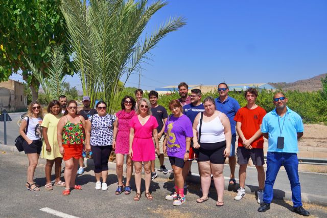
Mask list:
[[[167,110],[164,106],[158,105],[158,93],[156,91],[150,91],[149,93],[149,99],[151,103],[151,112],[152,116],[154,116],[157,119],[158,122],[158,140],[159,140],[159,162],[160,162],[160,170],[163,173],[168,173],[168,170],[166,169],[164,165],[165,155],[164,155],[164,148],[162,146],[162,143],[164,141],[164,135],[165,133],[165,123],[168,118]],[[154,178],[157,177],[157,173],[154,169],[154,161],[151,163],[151,179],[154,180]]]

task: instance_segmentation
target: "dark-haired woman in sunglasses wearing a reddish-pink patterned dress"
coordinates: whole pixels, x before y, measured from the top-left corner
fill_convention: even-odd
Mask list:
[[[129,122],[135,116],[135,100],[131,96],[125,96],[121,102],[122,110],[116,113],[116,121],[113,123],[113,142],[112,148],[115,149],[116,155],[116,173],[118,178],[118,188],[115,194],[120,194],[125,189],[125,194],[131,193],[129,184],[133,167],[129,151]],[[124,156],[126,155],[126,184],[123,183],[123,165]]]

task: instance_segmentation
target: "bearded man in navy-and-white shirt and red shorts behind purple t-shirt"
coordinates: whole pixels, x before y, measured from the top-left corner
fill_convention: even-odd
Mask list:
[[[204,111],[204,106],[201,102],[201,90],[199,89],[193,89],[191,90],[191,103],[186,104],[183,106],[183,114],[188,116],[188,118],[191,120],[192,124],[194,122],[195,117],[200,113]],[[195,156],[195,159],[197,159],[197,155]],[[192,161],[194,160],[194,150],[192,147],[190,148],[190,156],[189,160],[186,161],[184,167],[183,167],[183,177],[184,181],[187,175],[191,175],[191,165]]]

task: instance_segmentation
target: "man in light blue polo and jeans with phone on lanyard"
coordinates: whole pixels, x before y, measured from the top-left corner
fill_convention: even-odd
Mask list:
[[[261,132],[268,139],[267,171],[264,203],[258,211],[270,209],[273,185],[281,166],[284,166],[291,183],[293,211],[304,216],[310,213],[302,207],[301,186],[298,178],[297,140],[303,136],[302,118],[286,106],[288,99],[283,93],[276,93],[273,103],[276,108],[265,115]]]

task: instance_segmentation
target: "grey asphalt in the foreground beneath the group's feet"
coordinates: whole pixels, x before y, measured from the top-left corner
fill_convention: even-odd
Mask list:
[[[54,186],[53,191],[44,189],[44,164],[45,160],[40,159],[35,172],[35,181],[41,186],[41,191],[32,192],[25,188],[26,155],[0,153],[0,217],[57,217],[49,213],[53,210],[57,214],[65,213],[65,217],[69,217],[67,214],[77,217],[300,217],[291,211],[291,202],[275,200],[270,210],[259,213],[254,195],[247,194],[242,201],[235,201],[235,193],[229,191],[224,193],[225,206],[216,207],[214,188],[211,188],[207,202],[197,204],[196,199],[200,196],[198,184],[189,184],[186,202],[175,207],[171,201],[165,200],[166,194],[172,190],[173,181],[162,178],[151,182],[153,201],[146,200],[143,192],[141,200],[134,202],[134,180],[130,195],[115,195],[117,179],[115,172],[109,170],[109,189],[97,191],[94,172],[90,168],[77,178],[77,184],[82,185],[83,190],[73,190],[71,195],[64,197],[61,194],[63,187]],[[327,216],[326,207],[311,204],[305,204],[305,207],[313,217]]]

